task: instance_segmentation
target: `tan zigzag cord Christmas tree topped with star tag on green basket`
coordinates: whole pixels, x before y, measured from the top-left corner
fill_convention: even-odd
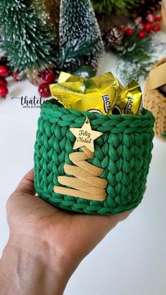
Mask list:
[[[94,158],[94,140],[103,133],[91,130],[88,118],[81,128],[70,128],[70,132],[76,137],[73,149],[81,148],[82,152],[70,153],[70,161],[75,165],[65,163],[64,171],[74,177],[58,176],[58,182],[66,187],[54,186],[53,191],[57,194],[103,201],[106,199],[108,184],[106,179],[100,178],[103,169],[87,162],[89,158]]]

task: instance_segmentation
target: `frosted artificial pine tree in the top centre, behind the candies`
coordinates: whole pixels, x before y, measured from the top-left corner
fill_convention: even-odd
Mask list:
[[[60,48],[63,51],[66,49],[74,51],[74,68],[87,64],[96,70],[104,46],[89,0],[61,0],[59,38]],[[71,58],[70,64],[72,65]]]

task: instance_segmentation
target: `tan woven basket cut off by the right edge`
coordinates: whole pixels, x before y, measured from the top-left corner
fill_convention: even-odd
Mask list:
[[[155,64],[154,68],[165,62],[166,58],[162,58]],[[143,105],[151,111],[155,117],[155,136],[166,140],[166,97],[163,96],[158,89],[150,90],[148,84],[149,76],[146,80]]]

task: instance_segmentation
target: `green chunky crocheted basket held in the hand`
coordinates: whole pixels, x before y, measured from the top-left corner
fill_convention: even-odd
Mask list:
[[[142,115],[101,115],[68,110],[46,101],[38,120],[37,140],[34,146],[34,187],[39,196],[58,208],[77,213],[110,215],[138,206],[145,191],[146,177],[153,149],[151,112]],[[88,160],[103,168],[106,178],[105,201],[56,194],[57,177],[65,175],[64,163],[72,164],[75,137],[70,127],[82,127],[86,115],[92,130],[103,132],[94,142],[94,158]]]

